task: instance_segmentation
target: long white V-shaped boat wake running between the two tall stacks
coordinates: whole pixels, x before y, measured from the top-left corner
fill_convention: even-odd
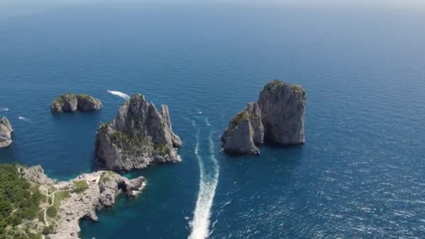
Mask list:
[[[195,126],[195,122],[192,122]],[[206,119],[207,126],[210,126],[208,119]],[[219,176],[219,165],[215,158],[214,141],[212,140],[212,131],[208,136],[209,144],[209,161],[204,159],[199,154],[199,133],[200,130],[196,131],[196,147],[195,155],[199,162],[200,180],[199,182],[199,193],[198,199],[196,200],[196,206],[194,210],[194,217],[189,225],[192,228],[192,232],[189,235],[189,239],[203,239],[208,238],[210,235],[210,215],[212,208],[212,201],[215,196],[215,189],[217,189],[218,176]],[[205,165],[208,164],[208,167]]]

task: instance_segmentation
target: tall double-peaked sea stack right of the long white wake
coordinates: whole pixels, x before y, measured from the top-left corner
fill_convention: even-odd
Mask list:
[[[222,135],[229,154],[259,154],[258,145],[298,145],[305,142],[305,91],[280,80],[268,82],[257,102],[238,113]]]

